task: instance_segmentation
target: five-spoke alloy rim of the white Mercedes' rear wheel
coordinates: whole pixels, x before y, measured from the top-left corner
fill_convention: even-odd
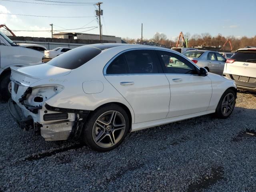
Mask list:
[[[118,111],[107,111],[100,115],[92,128],[94,142],[103,148],[112,147],[124,136],[126,122]]]

